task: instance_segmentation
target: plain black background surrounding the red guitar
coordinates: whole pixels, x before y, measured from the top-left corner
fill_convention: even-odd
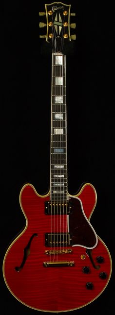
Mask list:
[[[48,1],[46,1],[47,3]],[[67,56],[68,191],[94,185],[97,205],[91,223],[114,263],[115,243],[115,19],[113,1],[77,0],[76,53]],[[1,106],[1,265],[8,244],[25,224],[19,206],[23,184],[49,190],[51,55],[40,53],[39,22],[44,1],[7,1],[4,9],[4,105]],[[3,108],[2,108],[3,107]],[[114,267],[113,267],[114,270]],[[39,314],[8,291],[1,271],[2,315]],[[71,288],[68,288],[72,290]],[[104,292],[84,315],[114,313],[114,271]]]

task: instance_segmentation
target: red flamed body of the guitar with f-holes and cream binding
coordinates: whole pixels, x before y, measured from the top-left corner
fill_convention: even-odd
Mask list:
[[[30,184],[20,192],[20,206],[26,226],[5,254],[3,276],[11,293],[21,303],[36,310],[64,312],[81,308],[102,293],[111,276],[111,256],[99,237],[89,253],[83,245],[75,244],[80,222],[85,220],[86,225],[90,226],[88,219],[96,206],[94,187],[85,184],[76,196],[69,195],[69,198],[74,205],[72,214],[51,216],[44,211],[49,194],[40,196]],[[62,231],[62,227],[66,233],[70,226],[75,243],[66,249],[69,248],[71,252],[48,254],[51,248],[46,246],[45,233],[51,232],[51,224],[53,233]],[[84,234],[86,230],[87,227]],[[52,249],[60,250],[56,246]],[[99,262],[97,257],[101,257],[98,258]],[[47,262],[55,264],[46,267]],[[61,262],[74,262],[74,265],[61,266]],[[83,267],[88,268],[84,270]]]

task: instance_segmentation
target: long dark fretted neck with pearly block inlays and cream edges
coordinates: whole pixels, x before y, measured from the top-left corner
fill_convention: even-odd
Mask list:
[[[66,56],[52,54],[50,200],[67,200]]]

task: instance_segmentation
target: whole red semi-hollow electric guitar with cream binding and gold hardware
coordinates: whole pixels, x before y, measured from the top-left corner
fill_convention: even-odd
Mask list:
[[[52,45],[50,190],[39,195],[31,184],[19,196],[26,219],[3,261],[9,291],[29,308],[44,312],[77,310],[93,302],[106,288],[112,260],[90,223],[96,190],[87,183],[79,193],[67,189],[66,47],[70,35],[70,5],[45,4],[47,45]]]

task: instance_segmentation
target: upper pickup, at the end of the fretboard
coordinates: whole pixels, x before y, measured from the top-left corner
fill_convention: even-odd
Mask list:
[[[45,201],[46,215],[69,215],[72,213],[70,201]]]

